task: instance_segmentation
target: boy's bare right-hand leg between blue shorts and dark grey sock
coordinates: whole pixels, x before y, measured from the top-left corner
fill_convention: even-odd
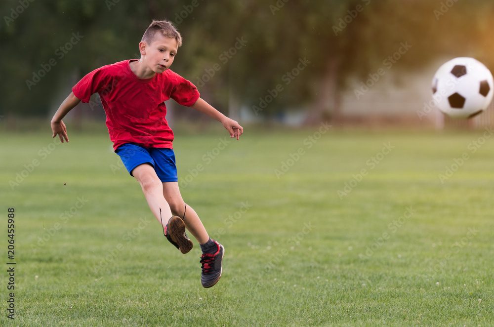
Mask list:
[[[194,235],[197,242],[199,244],[205,244],[209,240],[209,235],[207,235],[206,229],[196,211],[188,204],[187,208],[185,207],[185,202],[178,188],[178,182],[163,183],[163,195],[170,206],[171,213],[183,218],[185,226]]]

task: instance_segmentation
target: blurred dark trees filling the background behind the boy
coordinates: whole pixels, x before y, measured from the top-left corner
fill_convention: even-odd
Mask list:
[[[368,79],[402,43],[410,51],[389,61],[393,70],[438,55],[492,65],[493,7],[488,0],[4,0],[0,114],[46,115],[57,92],[82,75],[138,57],[144,29],[167,18],[184,38],[172,70],[220,110],[244,104],[269,116],[308,108],[307,123],[318,123],[338,118],[349,77]]]

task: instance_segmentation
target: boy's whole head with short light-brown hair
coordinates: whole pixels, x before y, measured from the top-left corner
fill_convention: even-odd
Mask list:
[[[155,20],[139,42],[141,62],[155,74],[161,74],[170,68],[180,45],[182,37],[171,22]]]

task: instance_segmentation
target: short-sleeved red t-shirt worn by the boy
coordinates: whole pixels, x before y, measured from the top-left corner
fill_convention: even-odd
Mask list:
[[[72,92],[86,103],[93,93],[99,93],[115,150],[124,143],[173,149],[173,131],[165,119],[164,102],[172,98],[190,107],[199,99],[199,91],[194,84],[169,69],[153,78],[139,79],[130,70],[130,61],[92,71],[72,88]]]

